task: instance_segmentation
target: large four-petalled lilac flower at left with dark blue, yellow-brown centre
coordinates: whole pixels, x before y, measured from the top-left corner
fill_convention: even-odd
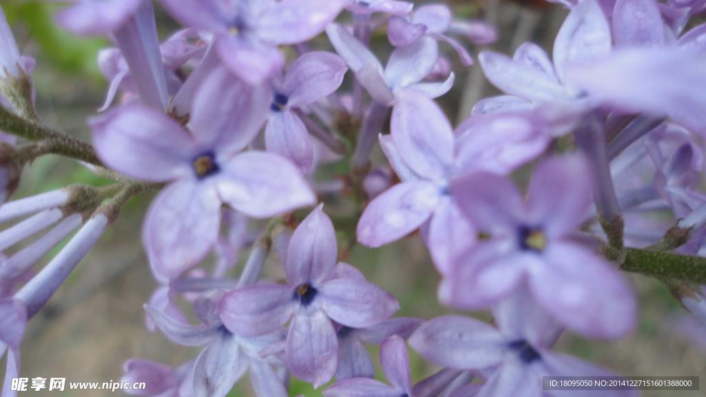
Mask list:
[[[172,182],[152,202],[144,223],[143,242],[156,275],[174,278],[208,254],[217,239],[222,203],[268,218],[314,202],[287,160],[239,153],[265,121],[270,97],[270,90],[246,85],[220,69],[194,101],[193,135],[142,107],[123,107],[92,120],[105,164],[137,179]]]

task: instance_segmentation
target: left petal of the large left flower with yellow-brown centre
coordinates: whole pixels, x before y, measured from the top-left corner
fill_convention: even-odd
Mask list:
[[[112,170],[151,182],[193,174],[196,143],[177,122],[156,110],[120,107],[88,124],[98,156]]]

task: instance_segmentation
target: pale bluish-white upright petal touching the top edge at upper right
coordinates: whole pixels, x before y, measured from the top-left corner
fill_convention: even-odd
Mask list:
[[[554,69],[566,81],[566,65],[606,57],[611,28],[596,0],[582,0],[571,9],[554,40]]]

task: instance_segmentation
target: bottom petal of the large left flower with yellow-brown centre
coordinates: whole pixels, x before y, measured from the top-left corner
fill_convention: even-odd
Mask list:
[[[162,190],[145,215],[142,234],[157,278],[176,278],[205,258],[219,225],[220,200],[208,182],[189,178]]]

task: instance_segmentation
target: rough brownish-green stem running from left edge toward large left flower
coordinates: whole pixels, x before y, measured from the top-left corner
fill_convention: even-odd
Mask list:
[[[44,124],[25,120],[1,106],[0,130],[28,141],[49,141],[51,153],[102,166],[90,143],[80,141]]]

